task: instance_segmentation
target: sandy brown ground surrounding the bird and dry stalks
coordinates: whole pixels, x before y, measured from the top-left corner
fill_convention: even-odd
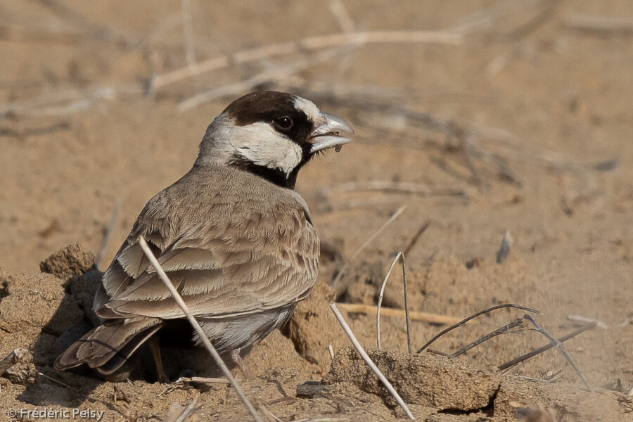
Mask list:
[[[152,95],[143,91],[151,77],[187,65],[181,2],[7,0],[0,15],[0,357],[15,347],[29,350],[0,378],[0,421],[13,420],[5,416],[10,408],[43,407],[103,410],[106,421],[175,421],[170,407],[178,413],[194,397],[187,421],[248,418],[226,385],[152,383],[142,356],[129,383],[58,373],[51,362],[72,337],[69,328],[90,324],[84,304],[98,273],[77,274],[91,267],[90,254],[98,254],[117,203],[99,269],[146,201],[191,167],[212,118],[255,87],[238,86],[184,111],[181,101],[250,80],[311,98],[357,132],[343,151],[314,160],[300,174],[298,191],[319,236],[342,259],[323,260],[321,287],[298,309],[294,325],[252,348],[245,359],[256,376],[243,379],[236,371],[257,407],[282,421],[405,417],[342,348],[348,342],[327,302],[337,295],[339,302],[375,305],[391,260],[407,249],[413,310],[467,316],[518,303],[544,312],[537,321],[555,336],[582,325],[569,315],[606,324],[565,343],[596,389],[587,392],[556,350],[506,373],[494,371],[547,343],[528,324],[449,361],[428,353],[407,357],[404,321],[383,318],[383,348],[390,352],[373,353],[418,420],[513,421],[516,408],[541,404],[556,421],[633,421],[627,397],[633,388],[630,1],[402,1],[396,7],[194,0],[198,62],[350,29],[463,36],[445,37],[452,43],[370,42],[272,82],[257,75],[318,51],[242,63],[234,56],[225,68]],[[511,251],[497,264],[506,231]],[[75,264],[63,261],[47,269],[53,274],[40,273],[39,263],[70,243],[85,251],[68,252]],[[326,285],[343,264],[333,293]],[[384,305],[403,306],[399,271]],[[362,343],[375,347],[375,317],[344,314]],[[497,311],[433,347],[458,350],[522,314]],[[414,349],[440,329],[414,321]],[[338,350],[333,362],[328,344]],[[185,367],[214,372],[197,351],[193,359],[168,352],[174,378]],[[478,384],[473,374],[480,372],[486,380]],[[470,388],[448,388],[441,373]],[[321,379],[327,388],[297,396],[298,385]]]

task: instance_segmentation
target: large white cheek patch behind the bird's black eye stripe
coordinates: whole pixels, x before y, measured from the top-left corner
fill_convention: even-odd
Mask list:
[[[281,170],[286,177],[303,158],[303,151],[297,143],[276,132],[267,123],[232,127],[229,139],[236,155],[255,165]]]

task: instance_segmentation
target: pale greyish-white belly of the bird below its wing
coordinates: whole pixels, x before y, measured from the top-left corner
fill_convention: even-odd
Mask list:
[[[282,326],[295,310],[295,304],[268,309],[257,314],[231,318],[200,319],[200,326],[219,353],[247,347]],[[193,343],[202,343],[198,333],[193,334]]]

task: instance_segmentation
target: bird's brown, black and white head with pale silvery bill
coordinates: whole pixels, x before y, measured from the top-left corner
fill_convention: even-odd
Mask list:
[[[301,167],[319,151],[352,141],[344,120],[312,101],[277,91],[256,91],[229,104],[207,128],[196,165],[220,164],[294,188]]]

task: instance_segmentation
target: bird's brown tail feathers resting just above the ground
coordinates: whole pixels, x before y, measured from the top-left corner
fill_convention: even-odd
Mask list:
[[[109,375],[162,326],[158,318],[132,318],[106,321],[72,343],[55,359],[56,369],[70,369],[87,364]]]

